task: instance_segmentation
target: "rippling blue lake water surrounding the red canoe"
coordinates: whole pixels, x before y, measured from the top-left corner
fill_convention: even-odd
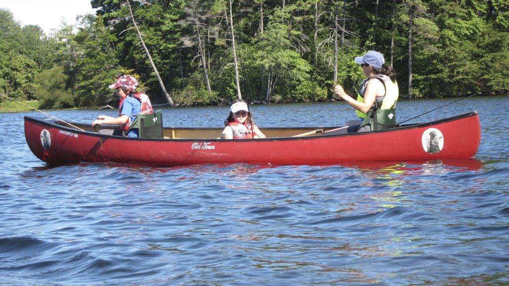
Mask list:
[[[400,100],[398,122],[454,100]],[[49,167],[24,139],[38,112],[0,113],[0,285],[507,285],[508,107],[472,97],[411,121],[477,110],[471,160],[325,166]],[[354,118],[343,102],[251,110],[262,130]],[[166,126],[227,115],[163,110]]]

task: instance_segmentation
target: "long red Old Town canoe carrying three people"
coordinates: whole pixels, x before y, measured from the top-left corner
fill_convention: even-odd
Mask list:
[[[364,133],[337,127],[264,128],[265,139],[219,139],[222,128],[164,128],[163,138],[100,135],[91,126],[26,116],[25,138],[48,164],[249,163],[314,165],[355,161],[470,158],[480,142],[477,112]],[[79,128],[75,128],[79,127]],[[82,129],[82,130],[79,130]],[[337,133],[337,132],[336,132]]]

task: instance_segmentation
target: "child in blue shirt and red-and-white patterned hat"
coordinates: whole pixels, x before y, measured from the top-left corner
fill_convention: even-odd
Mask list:
[[[136,93],[138,80],[131,75],[123,75],[117,78],[117,81],[109,85],[110,89],[117,90],[120,98],[119,116],[110,117],[100,115],[97,117],[92,126],[101,124],[120,124],[123,127],[120,130],[100,130],[101,134],[124,135],[128,137],[138,137],[138,128],[130,128],[130,123],[138,114],[153,113],[152,104],[149,97],[144,93]]]

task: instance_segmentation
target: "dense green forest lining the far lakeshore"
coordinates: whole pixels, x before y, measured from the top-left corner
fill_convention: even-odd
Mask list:
[[[91,4],[96,15],[49,36],[0,9],[0,92],[46,108],[115,105],[108,83],[133,73],[154,103],[168,102],[165,87],[176,104],[222,104],[238,96],[235,56],[244,99],[319,101],[357,85],[353,59],[375,49],[403,95],[509,94],[505,0],[130,0],[143,43],[126,0]]]

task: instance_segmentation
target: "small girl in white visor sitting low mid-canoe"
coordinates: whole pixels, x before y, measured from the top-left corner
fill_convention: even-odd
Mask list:
[[[252,122],[247,102],[236,99],[230,104],[230,115],[221,137],[224,139],[265,138],[265,134]]]

